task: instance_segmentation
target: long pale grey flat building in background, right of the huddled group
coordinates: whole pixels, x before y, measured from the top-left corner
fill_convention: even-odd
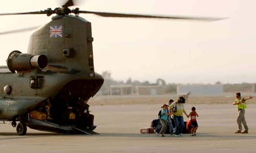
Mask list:
[[[223,85],[177,85],[177,94],[187,94],[197,96],[221,96],[223,95]]]

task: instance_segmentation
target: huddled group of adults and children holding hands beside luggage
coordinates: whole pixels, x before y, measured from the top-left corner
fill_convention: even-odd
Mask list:
[[[184,109],[184,103],[185,98],[179,97],[177,102],[174,100],[170,100],[168,102],[169,105],[164,104],[162,106],[162,110],[159,112],[159,119],[160,123],[162,125],[162,129],[160,130],[160,136],[164,137],[164,133],[166,133],[167,125],[169,126],[170,133],[175,134],[175,137],[181,137],[184,125],[184,119],[183,119],[183,113],[190,119],[191,119],[191,136],[196,135],[196,130],[198,128],[196,117],[199,117],[199,115],[196,113],[196,108],[192,107],[191,112],[187,114],[187,112]],[[173,121],[176,125],[176,130],[174,132],[174,128],[172,127],[172,119],[171,116],[173,116]]]

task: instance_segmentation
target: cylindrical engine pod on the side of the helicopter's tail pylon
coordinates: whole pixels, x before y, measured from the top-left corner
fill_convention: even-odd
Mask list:
[[[43,69],[47,66],[48,59],[46,55],[30,55],[20,51],[13,51],[7,59],[7,66],[11,72],[27,71],[32,68]]]

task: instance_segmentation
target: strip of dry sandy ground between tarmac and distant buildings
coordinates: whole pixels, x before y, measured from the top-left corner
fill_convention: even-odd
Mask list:
[[[254,96],[256,93],[242,93],[243,97]],[[170,99],[177,100],[179,96],[97,96],[90,99],[91,106],[96,105],[138,105],[138,104],[163,104]],[[224,96],[189,96],[187,104],[232,104],[234,93],[225,93]],[[256,104],[256,98],[250,100],[250,104]]]

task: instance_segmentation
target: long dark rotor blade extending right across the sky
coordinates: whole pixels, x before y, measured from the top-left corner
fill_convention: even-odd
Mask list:
[[[95,11],[78,11],[78,13],[96,14],[104,17],[117,17],[117,18],[161,18],[161,19],[185,19],[185,20],[204,20],[216,21],[225,18],[204,18],[204,17],[189,17],[189,16],[162,16],[162,15],[146,15],[146,14],[125,14],[125,13],[104,13]]]

